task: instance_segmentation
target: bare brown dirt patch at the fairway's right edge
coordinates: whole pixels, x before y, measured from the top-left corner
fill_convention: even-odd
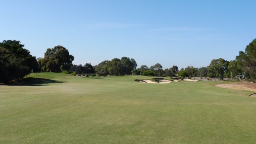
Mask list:
[[[228,84],[216,84],[215,86],[221,88],[250,90],[256,92],[256,83],[253,82],[230,82]]]

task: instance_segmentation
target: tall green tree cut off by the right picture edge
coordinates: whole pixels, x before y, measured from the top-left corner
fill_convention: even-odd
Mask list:
[[[250,74],[251,78],[256,79],[256,39],[246,46],[244,52],[239,52],[236,60],[238,67]]]

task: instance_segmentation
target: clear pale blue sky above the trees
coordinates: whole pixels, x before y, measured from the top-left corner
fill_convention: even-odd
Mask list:
[[[1,0],[0,41],[33,56],[62,45],[73,64],[123,56],[148,67],[234,60],[256,38],[256,0]]]

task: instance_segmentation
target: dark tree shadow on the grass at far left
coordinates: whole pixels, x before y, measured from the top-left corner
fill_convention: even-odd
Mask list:
[[[45,84],[52,83],[64,83],[57,80],[50,80],[46,78],[24,78],[21,83],[10,83],[10,84],[0,84],[6,86],[45,86]]]

